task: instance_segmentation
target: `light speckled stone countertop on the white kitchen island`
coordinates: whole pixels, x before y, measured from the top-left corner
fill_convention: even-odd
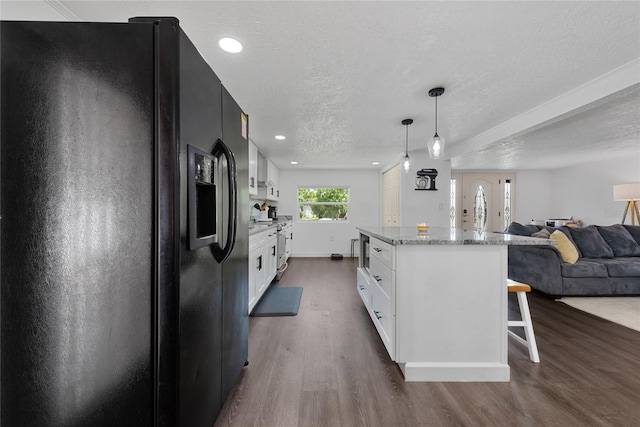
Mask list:
[[[391,245],[555,245],[555,240],[502,233],[477,233],[447,227],[429,227],[418,233],[416,227],[356,227],[360,232]]]

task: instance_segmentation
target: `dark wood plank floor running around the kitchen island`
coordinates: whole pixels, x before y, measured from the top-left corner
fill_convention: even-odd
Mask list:
[[[290,260],[279,286],[304,287],[300,311],[251,318],[249,365],[216,426],[640,426],[640,332],[533,292],[541,363],[509,340],[509,383],[406,383],[355,269]]]

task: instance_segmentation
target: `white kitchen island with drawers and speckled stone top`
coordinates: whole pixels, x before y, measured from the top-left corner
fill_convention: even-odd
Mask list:
[[[357,290],[406,381],[509,381],[507,245],[553,241],[358,227]]]

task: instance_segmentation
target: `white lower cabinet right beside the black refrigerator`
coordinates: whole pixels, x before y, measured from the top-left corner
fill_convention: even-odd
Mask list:
[[[275,227],[249,236],[249,313],[276,276],[277,244]]]

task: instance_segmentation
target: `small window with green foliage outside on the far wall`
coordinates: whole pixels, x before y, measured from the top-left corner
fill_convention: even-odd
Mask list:
[[[346,221],[348,188],[298,188],[300,221]]]

